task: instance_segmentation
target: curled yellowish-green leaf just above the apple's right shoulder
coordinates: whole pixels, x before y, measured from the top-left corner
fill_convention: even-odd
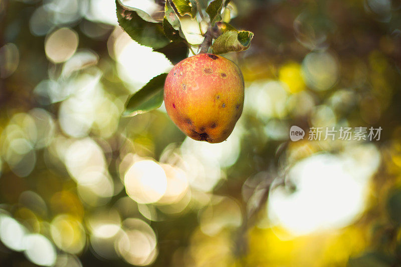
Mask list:
[[[214,54],[224,54],[228,52],[240,52],[247,50],[251,45],[254,34],[248,31],[227,31],[219,36],[212,49]]]

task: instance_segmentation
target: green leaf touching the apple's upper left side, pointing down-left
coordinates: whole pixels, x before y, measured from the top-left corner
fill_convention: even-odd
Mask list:
[[[133,94],[125,104],[123,117],[133,117],[153,109],[163,103],[163,87],[167,73],[160,74],[151,79],[138,92]]]

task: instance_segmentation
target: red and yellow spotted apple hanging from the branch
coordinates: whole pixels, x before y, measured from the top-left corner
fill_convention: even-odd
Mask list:
[[[164,83],[168,116],[187,136],[220,143],[233,132],[244,107],[240,68],[224,57],[198,54],[177,63]]]

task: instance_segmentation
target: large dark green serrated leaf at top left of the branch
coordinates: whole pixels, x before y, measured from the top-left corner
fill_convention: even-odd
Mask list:
[[[142,20],[136,11],[122,6],[119,0],[116,0],[116,6],[119,25],[134,41],[153,49],[165,47],[170,43],[164,36],[161,23]]]

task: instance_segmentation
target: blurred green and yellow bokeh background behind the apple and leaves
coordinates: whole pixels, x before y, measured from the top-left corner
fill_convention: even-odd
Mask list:
[[[172,65],[114,1],[0,0],[1,266],[401,265],[401,1],[233,0],[225,19],[255,37],[225,55],[244,112],[209,144],[163,106],[120,116]]]

